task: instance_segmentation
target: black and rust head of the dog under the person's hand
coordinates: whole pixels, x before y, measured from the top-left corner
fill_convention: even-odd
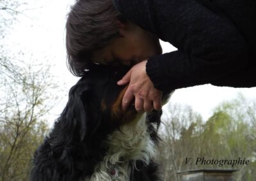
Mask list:
[[[67,129],[74,129],[73,133],[78,131],[81,140],[99,132],[100,127],[111,132],[134,120],[139,114],[134,106],[122,111],[122,98],[127,87],[117,85],[128,70],[125,66],[94,64],[70,89],[67,106],[59,120],[67,122]]]

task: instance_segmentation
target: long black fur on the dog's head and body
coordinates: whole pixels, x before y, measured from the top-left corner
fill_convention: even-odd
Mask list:
[[[118,129],[125,117],[136,115],[132,106],[129,114],[121,110],[115,116],[111,114],[112,105],[124,89],[116,82],[128,69],[95,64],[70,89],[67,106],[35,152],[31,180],[73,181],[92,175],[95,164],[106,155],[107,135]],[[161,112],[155,111],[147,117],[148,131],[156,143],[160,116]],[[137,163],[139,170],[132,170],[131,180],[159,180],[153,161],[148,166]]]

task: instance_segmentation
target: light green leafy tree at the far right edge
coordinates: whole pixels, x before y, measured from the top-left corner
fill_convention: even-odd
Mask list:
[[[249,165],[236,165],[239,171],[237,180],[250,180],[255,175],[256,128],[255,121],[256,100],[246,99],[239,94],[236,99],[226,101],[217,106],[212,117],[205,123],[214,123],[214,132],[218,134],[218,145],[215,150],[221,150],[217,158],[250,160]],[[209,133],[204,133],[209,134]],[[214,138],[214,136],[212,136]],[[216,136],[215,136],[216,137]],[[227,166],[227,168],[231,168]]]

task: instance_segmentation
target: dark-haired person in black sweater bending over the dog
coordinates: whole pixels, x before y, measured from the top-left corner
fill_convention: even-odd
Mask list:
[[[161,108],[163,92],[211,83],[256,85],[253,0],[80,0],[67,20],[70,71],[90,63],[136,63],[118,85],[138,112]],[[177,51],[161,54],[157,38]]]

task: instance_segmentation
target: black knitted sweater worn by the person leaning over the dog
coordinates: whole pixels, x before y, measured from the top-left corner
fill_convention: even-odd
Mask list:
[[[161,91],[256,86],[256,0],[113,0],[134,24],[178,50],[148,59]]]

